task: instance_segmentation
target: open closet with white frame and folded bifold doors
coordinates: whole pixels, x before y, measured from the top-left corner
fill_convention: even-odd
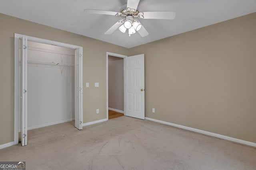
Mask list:
[[[82,129],[82,47],[14,34],[14,144],[27,131],[75,120]]]

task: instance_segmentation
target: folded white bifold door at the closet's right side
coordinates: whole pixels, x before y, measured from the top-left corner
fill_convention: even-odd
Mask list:
[[[75,127],[83,128],[82,48],[75,52]]]

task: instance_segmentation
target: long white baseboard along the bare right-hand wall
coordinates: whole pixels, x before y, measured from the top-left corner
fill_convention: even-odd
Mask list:
[[[244,145],[249,145],[249,146],[252,146],[252,147],[256,147],[256,143],[253,143],[253,142],[244,141],[244,140],[241,140],[241,139],[236,139],[236,138],[232,138],[232,137],[228,137],[228,136],[224,136],[224,135],[220,135],[220,134],[212,133],[212,132],[208,132],[208,131],[203,131],[203,130],[195,129],[195,128],[192,128],[192,127],[177,125],[177,124],[166,122],[166,121],[151,119],[149,117],[145,117],[145,119],[150,120],[150,121],[155,121],[155,122],[158,122],[158,123],[162,123],[162,124],[165,124],[165,125],[171,125],[171,126],[174,126],[174,127],[179,127],[181,129],[186,129],[186,130],[189,130],[189,131],[194,131],[194,132],[197,132],[197,133],[202,133],[204,135],[218,137],[220,139],[226,139],[228,141],[233,141],[233,142],[236,142],[236,143],[241,143],[241,144],[244,144]]]

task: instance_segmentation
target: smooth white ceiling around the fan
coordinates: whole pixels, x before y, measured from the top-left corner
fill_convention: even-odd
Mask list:
[[[120,12],[127,0],[1,0],[0,13],[99,39],[135,47],[193,29],[256,12],[256,0],[140,0],[137,10],[176,11],[174,20],[140,20],[149,35],[104,33],[118,16],[85,14],[84,9]]]

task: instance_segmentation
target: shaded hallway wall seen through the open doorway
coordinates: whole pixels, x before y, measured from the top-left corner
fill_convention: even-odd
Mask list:
[[[124,59],[108,56],[108,107],[124,111]]]

